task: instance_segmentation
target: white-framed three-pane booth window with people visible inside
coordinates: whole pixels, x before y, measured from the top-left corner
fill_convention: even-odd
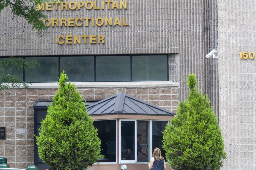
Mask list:
[[[168,121],[121,120],[120,163],[150,162],[150,155],[156,147],[165,158],[162,140],[167,123]]]

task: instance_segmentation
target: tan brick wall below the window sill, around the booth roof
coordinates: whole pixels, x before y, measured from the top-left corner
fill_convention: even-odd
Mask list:
[[[0,156],[11,168],[34,164],[34,109],[37,101],[52,101],[57,88],[9,89],[0,91],[0,127],[6,127],[6,140],[0,140]],[[167,110],[176,111],[178,87],[78,88],[83,100],[102,100],[123,92]]]

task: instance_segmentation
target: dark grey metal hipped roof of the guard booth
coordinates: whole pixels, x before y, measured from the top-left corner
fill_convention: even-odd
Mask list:
[[[87,112],[92,116],[108,114],[175,115],[171,111],[122,92],[87,106]]]

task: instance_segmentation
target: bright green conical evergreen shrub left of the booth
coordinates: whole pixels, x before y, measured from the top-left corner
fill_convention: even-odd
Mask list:
[[[100,155],[100,140],[80,93],[60,74],[59,90],[48,107],[36,136],[39,157],[52,170],[83,170]]]

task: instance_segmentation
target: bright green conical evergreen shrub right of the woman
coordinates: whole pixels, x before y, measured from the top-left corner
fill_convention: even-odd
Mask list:
[[[185,102],[179,102],[177,116],[164,131],[165,156],[176,170],[217,170],[227,159],[221,129],[208,96],[197,88],[195,74],[189,74],[187,80],[190,94]]]

